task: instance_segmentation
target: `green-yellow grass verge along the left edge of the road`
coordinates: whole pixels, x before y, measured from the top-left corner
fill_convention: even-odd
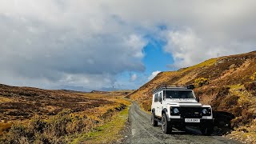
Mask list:
[[[120,132],[127,122],[129,107],[126,106],[126,109],[115,114],[109,122],[98,126],[95,130],[75,139],[71,143],[110,143],[120,140],[122,138]]]

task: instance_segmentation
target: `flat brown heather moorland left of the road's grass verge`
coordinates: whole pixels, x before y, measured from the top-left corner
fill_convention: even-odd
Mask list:
[[[68,143],[112,120],[130,91],[81,93],[0,85],[0,143]]]

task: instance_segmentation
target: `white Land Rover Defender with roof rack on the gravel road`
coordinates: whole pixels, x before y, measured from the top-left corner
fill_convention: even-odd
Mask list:
[[[185,130],[198,126],[204,135],[213,132],[213,112],[210,105],[202,105],[193,91],[194,86],[161,86],[153,91],[151,125],[162,123],[162,131],[170,134],[172,127]]]

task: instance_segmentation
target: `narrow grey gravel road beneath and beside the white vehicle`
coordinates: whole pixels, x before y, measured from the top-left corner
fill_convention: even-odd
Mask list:
[[[130,134],[122,143],[240,143],[222,136],[203,136],[199,130],[186,127],[185,131],[173,130],[173,134],[163,134],[161,124],[150,125],[150,114],[142,111],[136,102],[129,111]]]

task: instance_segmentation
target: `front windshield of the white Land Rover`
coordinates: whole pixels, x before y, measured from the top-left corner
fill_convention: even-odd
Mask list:
[[[165,98],[194,98],[192,90],[164,90]]]

